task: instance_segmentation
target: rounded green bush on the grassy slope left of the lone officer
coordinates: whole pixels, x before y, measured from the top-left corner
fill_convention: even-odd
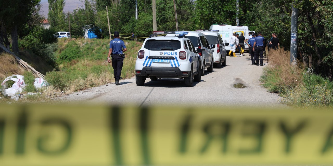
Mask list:
[[[66,48],[59,54],[58,61],[62,62],[70,62],[74,59],[79,59],[81,57],[81,49],[76,44],[75,41],[71,41],[66,45]]]

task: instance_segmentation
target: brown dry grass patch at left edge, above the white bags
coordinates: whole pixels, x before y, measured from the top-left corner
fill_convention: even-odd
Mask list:
[[[16,63],[15,58],[8,53],[0,54],[0,78],[5,78],[13,74],[20,74],[24,72],[22,68]]]

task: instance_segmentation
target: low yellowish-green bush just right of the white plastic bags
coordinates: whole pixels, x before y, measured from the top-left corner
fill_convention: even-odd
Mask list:
[[[65,72],[51,71],[46,73],[45,80],[54,88],[59,88],[63,91],[69,86],[71,78],[70,75]]]

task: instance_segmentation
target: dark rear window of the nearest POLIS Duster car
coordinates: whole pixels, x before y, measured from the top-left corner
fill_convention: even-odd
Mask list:
[[[151,51],[174,51],[180,49],[180,41],[176,40],[148,40],[144,48]]]

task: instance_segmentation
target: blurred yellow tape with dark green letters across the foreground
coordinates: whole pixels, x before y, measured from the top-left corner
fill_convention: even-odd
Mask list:
[[[333,112],[2,105],[1,166],[333,165]]]

